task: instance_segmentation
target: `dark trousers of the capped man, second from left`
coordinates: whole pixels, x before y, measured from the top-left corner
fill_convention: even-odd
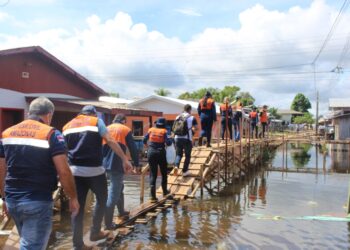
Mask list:
[[[77,189],[79,201],[79,213],[72,218],[73,227],[73,247],[81,249],[83,246],[83,220],[86,196],[88,191],[95,194],[96,204],[92,215],[92,226],[90,234],[98,234],[101,230],[102,219],[105,214],[107,201],[107,178],[106,174],[101,174],[94,177],[74,176],[75,187]]]

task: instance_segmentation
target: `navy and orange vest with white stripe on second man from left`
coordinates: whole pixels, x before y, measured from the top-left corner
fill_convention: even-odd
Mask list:
[[[97,123],[97,117],[78,115],[63,127],[71,165],[102,166],[102,137]]]

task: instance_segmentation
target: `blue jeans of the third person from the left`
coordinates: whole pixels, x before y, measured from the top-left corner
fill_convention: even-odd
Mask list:
[[[119,214],[124,210],[124,174],[119,172],[107,172],[110,180],[108,188],[108,198],[105,212],[105,225],[109,229],[113,224],[114,208],[117,206]]]

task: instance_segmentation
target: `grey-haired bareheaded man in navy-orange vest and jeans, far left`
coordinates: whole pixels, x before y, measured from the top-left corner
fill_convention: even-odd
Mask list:
[[[79,211],[74,179],[62,134],[50,127],[53,103],[34,99],[29,117],[6,129],[0,142],[0,191],[3,211],[20,236],[20,249],[46,249],[52,228],[57,176],[69,198],[72,217]],[[6,178],[5,178],[6,177]]]

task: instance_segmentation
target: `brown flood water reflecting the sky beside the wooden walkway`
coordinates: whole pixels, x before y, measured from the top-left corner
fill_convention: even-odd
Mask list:
[[[350,222],[345,219],[348,163],[340,166],[344,163],[332,160],[330,149],[319,153],[316,147],[290,144],[287,155],[280,148],[264,169],[227,188],[225,195],[181,202],[147,225],[136,225],[116,248],[350,249]],[[342,157],[349,159],[348,152],[343,150]],[[268,170],[286,165],[291,171],[319,165],[320,171]],[[139,204],[139,178],[127,177],[125,184],[126,207],[131,209]],[[69,218],[57,219],[60,229],[50,249],[70,249]]]

